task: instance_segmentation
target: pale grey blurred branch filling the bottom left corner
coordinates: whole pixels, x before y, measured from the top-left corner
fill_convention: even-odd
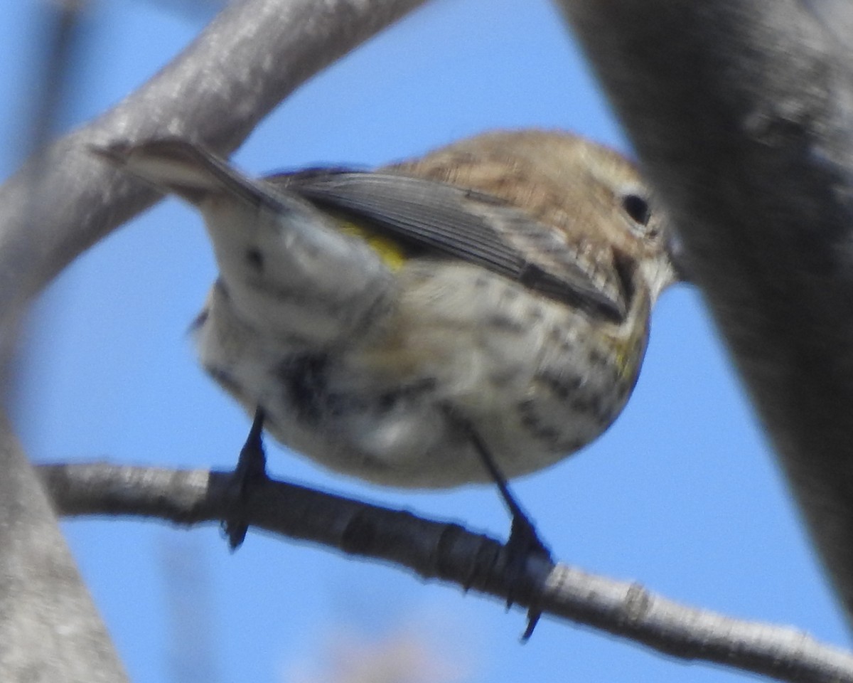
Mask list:
[[[127,680],[50,502],[0,415],[0,680]]]

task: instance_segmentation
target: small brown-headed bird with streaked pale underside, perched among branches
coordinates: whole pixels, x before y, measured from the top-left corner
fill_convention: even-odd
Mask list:
[[[97,151],[202,213],[200,362],[255,435],[369,482],[500,485],[593,441],[677,279],[635,168],[566,132],[260,179],[180,139]]]

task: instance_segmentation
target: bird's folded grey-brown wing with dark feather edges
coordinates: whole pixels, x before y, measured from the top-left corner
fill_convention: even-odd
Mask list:
[[[592,315],[624,318],[623,283],[560,231],[495,196],[389,172],[312,169],[264,178],[416,248],[477,263]]]

